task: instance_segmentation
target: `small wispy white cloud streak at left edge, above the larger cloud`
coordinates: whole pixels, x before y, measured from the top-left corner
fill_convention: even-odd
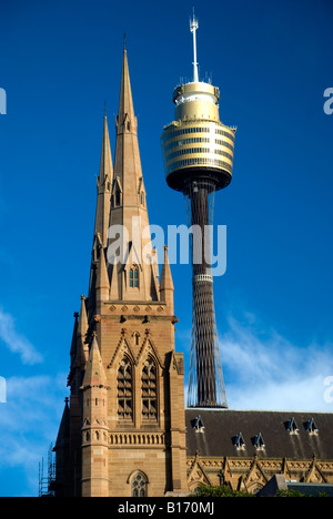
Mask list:
[[[0,340],[11,353],[19,354],[23,364],[34,365],[42,363],[42,356],[34,346],[16,329],[16,323],[10,314],[0,308]]]

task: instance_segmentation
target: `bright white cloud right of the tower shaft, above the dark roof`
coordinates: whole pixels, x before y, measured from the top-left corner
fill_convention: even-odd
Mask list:
[[[333,411],[324,396],[332,345],[293,345],[252,316],[231,317],[220,346],[230,408]]]

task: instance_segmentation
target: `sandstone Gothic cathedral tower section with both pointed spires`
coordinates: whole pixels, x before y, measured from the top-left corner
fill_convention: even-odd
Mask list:
[[[105,114],[89,293],[56,445],[59,496],[186,490],[184,363],[168,248],[160,276],[151,244],[125,49],[115,131],[113,161]]]

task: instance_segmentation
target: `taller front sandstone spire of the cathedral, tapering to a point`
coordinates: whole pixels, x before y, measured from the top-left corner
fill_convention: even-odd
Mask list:
[[[159,301],[157,256],[152,251],[145,189],[138,141],[128,53],[123,51],[117,143],[111,191],[110,230],[119,226],[122,236],[109,236],[110,298],[112,301]],[[117,251],[117,243],[119,251]],[[117,260],[114,261],[114,254]]]

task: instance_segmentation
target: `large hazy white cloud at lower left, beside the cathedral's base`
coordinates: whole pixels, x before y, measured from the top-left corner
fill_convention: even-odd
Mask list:
[[[20,474],[12,497],[38,496],[39,462],[57,439],[68,396],[65,379],[65,374],[7,379],[7,404],[0,405],[0,472]]]

